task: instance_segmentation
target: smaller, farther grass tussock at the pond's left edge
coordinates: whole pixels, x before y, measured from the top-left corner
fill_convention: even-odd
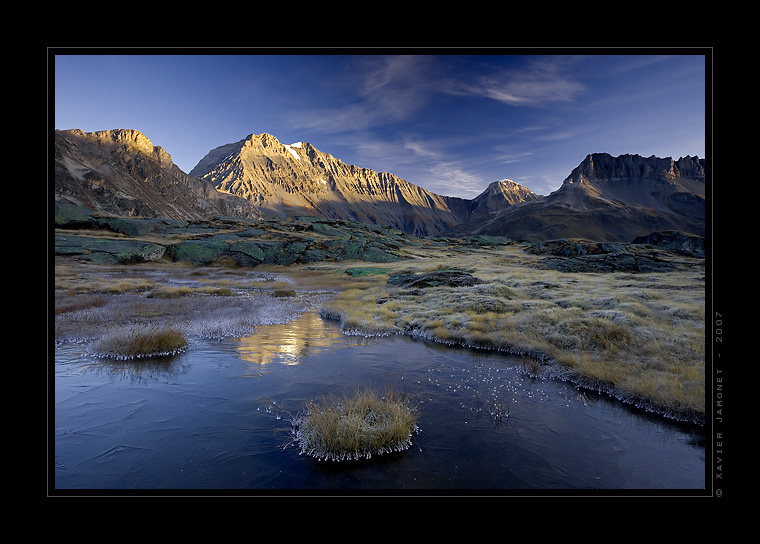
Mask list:
[[[100,341],[96,351],[103,357],[135,359],[173,355],[187,345],[185,335],[178,329],[146,327],[112,333]]]

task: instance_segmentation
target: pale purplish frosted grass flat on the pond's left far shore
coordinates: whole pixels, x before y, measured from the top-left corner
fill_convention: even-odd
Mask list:
[[[195,338],[241,337],[258,325],[285,323],[327,296],[280,281],[277,274],[185,266],[56,268],[55,340],[102,353],[146,329],[172,328]],[[131,285],[114,290],[113,285]],[[288,297],[278,291],[288,286]],[[60,310],[60,311],[59,311]]]

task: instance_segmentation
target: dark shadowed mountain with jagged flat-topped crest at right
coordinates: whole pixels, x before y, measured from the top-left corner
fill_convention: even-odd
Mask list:
[[[587,155],[553,193],[452,229],[545,241],[631,242],[653,232],[705,236],[705,160]]]

